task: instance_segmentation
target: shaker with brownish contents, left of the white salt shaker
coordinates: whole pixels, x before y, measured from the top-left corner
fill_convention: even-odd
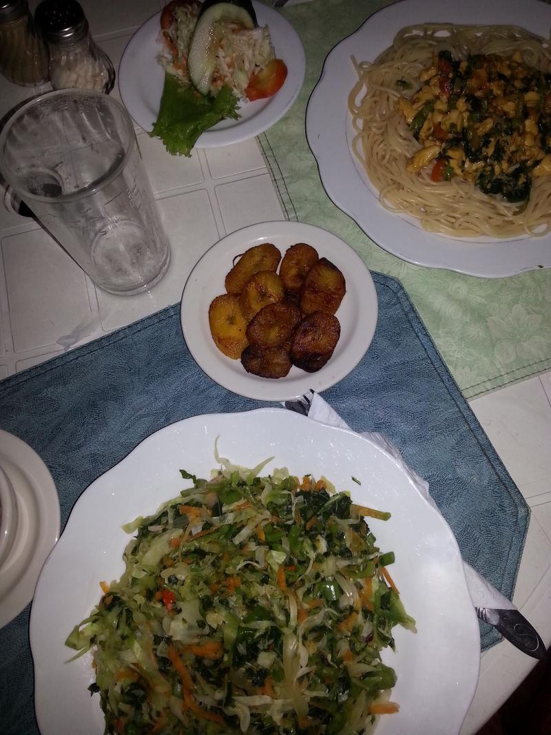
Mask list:
[[[0,0],[0,72],[24,87],[48,81],[48,49],[26,0]]]

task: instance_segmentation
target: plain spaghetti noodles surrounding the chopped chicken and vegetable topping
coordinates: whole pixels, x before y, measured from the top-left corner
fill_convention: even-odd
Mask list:
[[[375,62],[353,60],[359,77],[348,98],[355,131],[353,151],[378,190],[381,204],[447,237],[547,234],[551,231],[551,176],[534,179],[530,198],[519,205],[489,196],[458,176],[433,182],[427,169],[406,170],[419,143],[397,100],[413,94],[419,87],[419,73],[442,50],[458,60],[473,54],[509,57],[519,51],[526,65],[543,73],[551,71],[550,43],[516,26],[408,26]]]

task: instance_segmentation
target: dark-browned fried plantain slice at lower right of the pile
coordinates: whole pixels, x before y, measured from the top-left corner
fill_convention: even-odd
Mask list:
[[[325,312],[307,315],[295,331],[289,354],[292,364],[308,373],[320,370],[333,354],[340,334],[336,316]]]

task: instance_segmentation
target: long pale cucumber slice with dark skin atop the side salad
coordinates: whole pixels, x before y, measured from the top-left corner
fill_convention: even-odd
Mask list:
[[[201,10],[187,54],[187,72],[192,85],[203,95],[209,94],[211,90],[216,49],[222,37],[221,24],[224,21],[235,21],[249,29],[256,26],[256,15],[252,5],[250,2],[245,4],[251,6],[252,15],[243,4],[231,1],[214,2]]]

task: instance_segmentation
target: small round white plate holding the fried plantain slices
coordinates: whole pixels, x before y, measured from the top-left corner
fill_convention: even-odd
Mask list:
[[[212,340],[212,299],[226,293],[224,279],[234,258],[261,243],[273,243],[282,256],[291,245],[308,243],[345,276],[346,295],[336,312],[341,336],[333,356],[317,373],[306,373],[293,366],[285,378],[259,378],[247,373],[240,360],[222,354]],[[310,388],[321,392],[338,383],[358,365],[370,346],[377,314],[375,284],[359,255],[331,232],[300,222],[263,222],[219,240],[195,265],[181,297],[181,329],[195,362],[224,388],[259,401],[287,401]]]

